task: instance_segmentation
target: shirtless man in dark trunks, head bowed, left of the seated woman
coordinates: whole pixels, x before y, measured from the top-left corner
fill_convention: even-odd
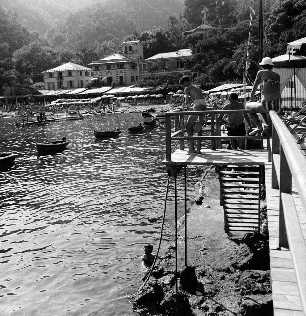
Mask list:
[[[238,94],[231,93],[229,95],[229,103],[225,104],[222,110],[245,110],[245,107],[242,102],[238,102]],[[252,125],[250,118],[247,114],[239,114],[239,113],[232,113],[232,114],[225,114],[227,116],[227,121],[223,119],[224,114],[219,114],[219,122],[227,125],[227,135],[228,136],[244,136],[246,135],[244,119],[246,119],[248,123],[249,132],[251,132]],[[244,139],[239,139],[239,149],[244,149]],[[230,144],[232,149],[237,149],[237,139],[230,140]]]

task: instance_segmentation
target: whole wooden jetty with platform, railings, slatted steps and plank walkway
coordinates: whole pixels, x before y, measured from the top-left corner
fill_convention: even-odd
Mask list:
[[[175,208],[176,177],[180,170],[184,168],[186,210],[186,167],[215,165],[219,173],[224,230],[230,235],[241,235],[260,228],[260,184],[265,183],[274,315],[306,316],[306,146],[297,144],[299,137],[291,134],[290,128],[274,111],[270,111],[273,124],[270,139],[223,136],[218,130],[218,122],[214,124],[220,112],[206,111],[206,114],[211,115],[211,135],[201,137],[184,137],[180,130],[172,132],[171,116],[199,115],[203,112],[165,113],[166,159],[162,164],[166,165],[168,174],[174,177]],[[296,130],[294,127],[292,129]],[[256,138],[262,140],[262,149],[228,150],[220,146],[221,140]],[[184,141],[189,139],[210,140],[211,148],[201,149],[201,154],[186,155]],[[180,143],[180,149],[175,150],[174,141]],[[227,171],[227,168],[232,167],[238,170],[234,175]],[[185,262],[186,225],[185,211]]]

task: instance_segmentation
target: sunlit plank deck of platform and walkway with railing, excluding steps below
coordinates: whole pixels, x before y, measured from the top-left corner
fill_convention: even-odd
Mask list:
[[[297,144],[305,129],[296,128],[291,135],[290,126],[288,130],[274,111],[270,111],[270,118],[273,130],[269,152],[201,149],[201,155],[186,155],[187,150],[172,153],[171,141],[217,141],[229,137],[178,137],[179,132],[171,134],[166,115],[166,159],[162,164],[169,170],[171,166],[187,165],[264,165],[274,316],[306,316],[306,145]]]

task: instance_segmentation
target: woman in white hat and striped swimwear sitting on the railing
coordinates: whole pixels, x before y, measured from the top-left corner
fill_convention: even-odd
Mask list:
[[[250,113],[251,119],[256,125],[256,129],[249,133],[249,135],[267,136],[268,131],[271,129],[271,122],[268,119],[269,111],[274,110],[279,112],[282,105],[280,95],[280,76],[273,71],[273,62],[270,57],[265,57],[259,63],[262,70],[259,70],[254,81],[254,86],[251,92],[250,102],[247,102],[246,108],[252,110]],[[258,85],[261,87],[261,102],[252,102]],[[260,117],[263,127],[261,126]]]

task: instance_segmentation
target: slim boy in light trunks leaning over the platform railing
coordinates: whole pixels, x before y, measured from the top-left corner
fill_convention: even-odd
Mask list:
[[[187,111],[205,111],[206,102],[203,96],[201,88],[195,84],[192,84],[188,76],[182,76],[180,79],[180,85],[184,88],[185,106]],[[190,107],[189,96],[193,100],[193,107]],[[204,124],[205,115],[189,115],[185,128],[188,136],[193,136],[193,133],[197,133],[198,136],[202,136],[202,126]],[[193,153],[201,153],[201,140],[198,140],[197,149],[194,148],[193,140],[189,140],[189,150],[187,155]]]

